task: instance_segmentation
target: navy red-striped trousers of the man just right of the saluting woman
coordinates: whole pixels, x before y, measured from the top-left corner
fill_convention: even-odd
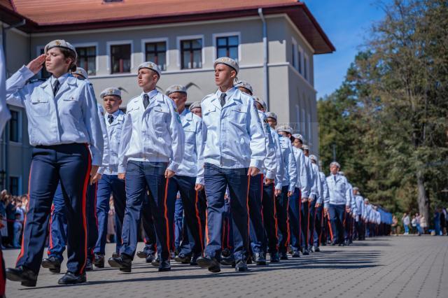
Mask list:
[[[159,255],[162,261],[169,260],[170,236],[167,208],[168,180],[165,178],[167,162],[129,161],[126,166],[126,208],[123,219],[123,241],[120,254],[134,257],[140,231],[141,210],[146,190],[154,219],[155,233],[160,241]]]

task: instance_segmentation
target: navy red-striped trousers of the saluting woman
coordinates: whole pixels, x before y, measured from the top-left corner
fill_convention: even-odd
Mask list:
[[[91,165],[90,152],[85,144],[33,148],[29,211],[25,215],[17,267],[27,267],[36,274],[41,267],[50,209],[60,180],[67,208],[67,270],[74,274],[84,273],[87,260],[86,192]]]

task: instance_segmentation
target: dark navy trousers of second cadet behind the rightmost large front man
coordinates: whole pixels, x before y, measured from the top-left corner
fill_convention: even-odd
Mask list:
[[[263,185],[262,209],[263,225],[265,226],[266,233],[261,245],[262,251],[266,253],[266,250],[269,250],[271,254],[278,253],[279,234],[277,232],[278,224],[275,208],[274,183]]]

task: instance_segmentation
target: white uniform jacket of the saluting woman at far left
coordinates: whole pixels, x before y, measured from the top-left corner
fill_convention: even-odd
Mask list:
[[[92,152],[92,165],[101,166],[103,135],[98,118],[97,101],[90,83],[66,73],[56,97],[56,78],[27,84],[34,73],[22,66],[6,80],[6,102],[27,111],[31,146],[86,143]]]

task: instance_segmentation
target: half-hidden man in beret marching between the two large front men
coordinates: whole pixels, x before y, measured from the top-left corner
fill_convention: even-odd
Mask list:
[[[190,245],[183,246],[176,257],[176,261],[196,264],[197,257],[200,257],[204,251],[204,237],[197,195],[204,189],[204,168],[198,163],[198,157],[203,146],[202,119],[186,108],[187,90],[185,86],[172,85],[168,87],[165,94],[176,104],[185,134],[183,159],[176,175],[169,180],[167,194],[168,206],[171,209],[169,210],[170,227],[174,227],[174,203],[176,202],[176,194],[180,192],[185,224],[190,232],[188,237]],[[174,234],[173,230],[172,233]]]

